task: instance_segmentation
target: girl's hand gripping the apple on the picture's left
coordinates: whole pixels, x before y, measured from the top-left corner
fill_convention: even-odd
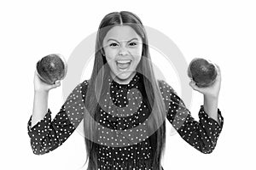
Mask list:
[[[49,92],[50,89],[52,88],[57,88],[61,86],[61,81],[57,80],[55,84],[50,85],[47,84],[46,82],[43,82],[37,74],[37,71],[34,72],[34,91],[36,92]]]

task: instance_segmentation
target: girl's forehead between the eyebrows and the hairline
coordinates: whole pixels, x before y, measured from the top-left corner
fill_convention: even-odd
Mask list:
[[[141,40],[137,32],[134,31],[131,26],[113,26],[104,37],[104,42],[108,41],[108,38],[113,38],[118,41],[129,41],[134,37]]]

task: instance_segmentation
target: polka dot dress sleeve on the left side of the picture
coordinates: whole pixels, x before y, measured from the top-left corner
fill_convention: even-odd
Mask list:
[[[61,110],[51,121],[51,111],[48,109],[44,119],[31,127],[32,116],[27,122],[32,151],[36,155],[43,155],[55,150],[63,144],[73,133],[84,118],[84,98],[88,81],[79,83],[68,95]]]

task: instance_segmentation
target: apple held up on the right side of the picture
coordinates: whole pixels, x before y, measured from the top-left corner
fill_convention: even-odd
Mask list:
[[[188,76],[199,88],[211,86],[218,75],[217,66],[210,60],[195,58],[189,63]]]

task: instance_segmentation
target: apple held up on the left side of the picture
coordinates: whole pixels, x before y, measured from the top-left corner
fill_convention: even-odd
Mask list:
[[[37,63],[38,77],[48,84],[62,80],[67,74],[67,62],[61,54],[49,54]]]

